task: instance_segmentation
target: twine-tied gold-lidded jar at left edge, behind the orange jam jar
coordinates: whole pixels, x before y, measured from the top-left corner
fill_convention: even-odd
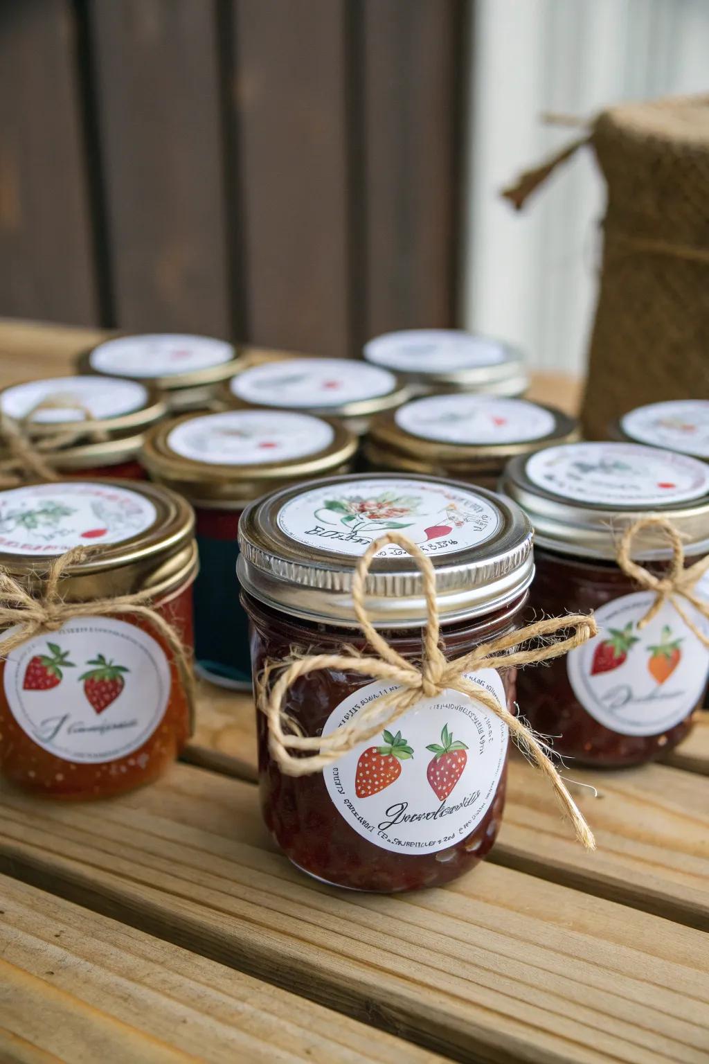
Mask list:
[[[138,452],[165,415],[153,388],[116,377],[54,377],[0,390],[6,429],[21,433],[53,470],[89,480],[145,478]],[[0,452],[0,462],[9,456]]]

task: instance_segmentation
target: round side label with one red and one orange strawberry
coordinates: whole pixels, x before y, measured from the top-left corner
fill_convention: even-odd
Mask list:
[[[652,592],[635,592],[606,602],[594,614],[598,634],[567,659],[576,699],[621,735],[659,735],[673,728],[692,712],[707,683],[709,650],[670,603],[638,628],[654,600]],[[686,609],[709,635],[709,621],[691,605]]]

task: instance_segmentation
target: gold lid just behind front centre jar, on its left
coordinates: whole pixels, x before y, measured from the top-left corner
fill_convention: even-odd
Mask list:
[[[348,468],[357,449],[342,426],[291,411],[185,414],[147,437],[150,476],[212,509],[242,509],[286,484]]]

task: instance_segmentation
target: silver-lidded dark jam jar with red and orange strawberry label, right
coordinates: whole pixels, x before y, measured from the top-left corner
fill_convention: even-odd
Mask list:
[[[565,659],[520,677],[533,728],[554,736],[560,753],[589,765],[634,765],[672,749],[702,704],[709,651],[670,603],[638,628],[655,595],[614,559],[623,530],[648,514],[668,518],[682,534],[688,564],[704,556],[709,469],[641,445],[570,444],[512,460],[503,487],[535,526],[530,608],[537,616],[593,610],[598,625],[598,634]],[[666,538],[643,531],[632,556],[661,575],[670,559]],[[686,609],[709,634],[700,614],[689,603]]]

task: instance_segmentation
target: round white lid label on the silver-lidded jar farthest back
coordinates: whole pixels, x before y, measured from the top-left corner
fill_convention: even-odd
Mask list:
[[[499,340],[461,329],[406,329],[370,339],[365,358],[403,372],[448,373],[499,365],[508,361],[509,353]]]

